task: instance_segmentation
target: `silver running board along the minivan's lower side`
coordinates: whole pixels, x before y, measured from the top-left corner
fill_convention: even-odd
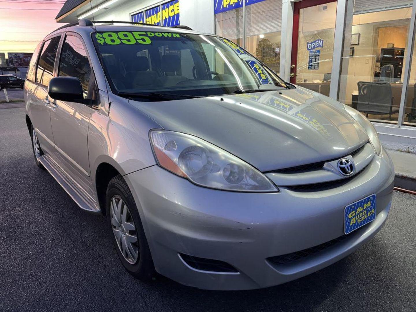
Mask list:
[[[78,189],[77,186],[72,183],[72,181],[67,178],[67,176],[60,172],[59,169],[56,169],[54,164],[47,156],[42,155],[39,157],[40,163],[46,168],[47,171],[54,177],[54,179],[59,183],[60,186],[68,193],[69,196],[74,200],[79,208],[87,210],[90,213],[101,213],[101,209],[97,207],[89,198],[84,196]]]

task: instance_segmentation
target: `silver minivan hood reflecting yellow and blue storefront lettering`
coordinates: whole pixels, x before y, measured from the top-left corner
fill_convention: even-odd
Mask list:
[[[262,172],[346,156],[368,141],[343,104],[301,87],[129,102],[164,129],[198,136]]]

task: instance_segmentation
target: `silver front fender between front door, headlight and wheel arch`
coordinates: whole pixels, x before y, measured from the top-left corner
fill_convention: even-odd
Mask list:
[[[150,141],[150,129],[163,129],[127,99],[111,94],[109,114],[103,109],[91,114],[88,134],[92,183],[101,163],[109,163],[121,175],[156,164]]]

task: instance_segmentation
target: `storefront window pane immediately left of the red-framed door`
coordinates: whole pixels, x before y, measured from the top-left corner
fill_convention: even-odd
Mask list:
[[[282,0],[249,3],[245,7],[245,46],[248,52],[279,73]]]

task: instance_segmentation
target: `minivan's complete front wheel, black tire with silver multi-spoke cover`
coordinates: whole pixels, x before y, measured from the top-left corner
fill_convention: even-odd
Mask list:
[[[150,280],[156,272],[149,245],[133,195],[120,175],[107,187],[106,216],[114,247],[127,272],[139,280]]]

